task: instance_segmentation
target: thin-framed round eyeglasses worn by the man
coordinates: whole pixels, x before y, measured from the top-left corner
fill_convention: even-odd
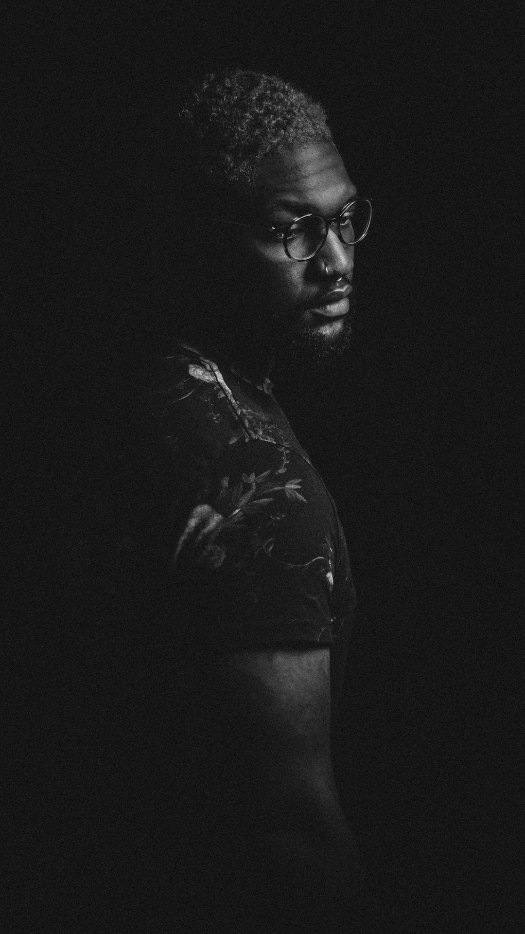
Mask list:
[[[210,218],[220,224],[233,224],[234,227],[253,227],[274,233],[291,260],[305,262],[311,260],[328,236],[333,224],[342,243],[351,246],[360,243],[368,233],[372,219],[372,205],[367,198],[356,198],[341,208],[333,218],[323,218],[319,214],[305,214],[295,218],[286,227],[263,227],[262,224],[244,224],[237,220]]]

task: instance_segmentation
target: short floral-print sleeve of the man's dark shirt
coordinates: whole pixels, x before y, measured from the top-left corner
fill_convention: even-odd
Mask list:
[[[165,602],[186,643],[333,644],[337,524],[311,465],[291,448],[240,442],[193,490],[173,526]]]

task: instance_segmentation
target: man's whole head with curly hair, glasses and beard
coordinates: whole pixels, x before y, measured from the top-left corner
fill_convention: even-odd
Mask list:
[[[206,78],[180,127],[193,276],[206,285],[194,340],[220,334],[259,360],[337,356],[350,334],[354,247],[336,225],[303,261],[292,234],[283,242],[294,219],[333,219],[356,195],[322,107],[279,78],[237,70]]]

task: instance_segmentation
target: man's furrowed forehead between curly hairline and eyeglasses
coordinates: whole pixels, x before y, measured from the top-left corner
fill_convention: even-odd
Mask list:
[[[268,156],[258,188],[262,208],[274,214],[331,213],[357,192],[333,143],[307,143]]]

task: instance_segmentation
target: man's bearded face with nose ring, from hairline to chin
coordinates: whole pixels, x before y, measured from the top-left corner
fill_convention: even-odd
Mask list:
[[[305,214],[333,218],[357,194],[332,143],[310,143],[268,157],[258,192],[257,219],[277,228]],[[274,358],[322,364],[348,346],[354,248],[333,229],[319,253],[305,262],[290,259],[274,234],[248,228],[240,253],[236,287],[245,290],[244,313],[257,316],[249,332]]]

